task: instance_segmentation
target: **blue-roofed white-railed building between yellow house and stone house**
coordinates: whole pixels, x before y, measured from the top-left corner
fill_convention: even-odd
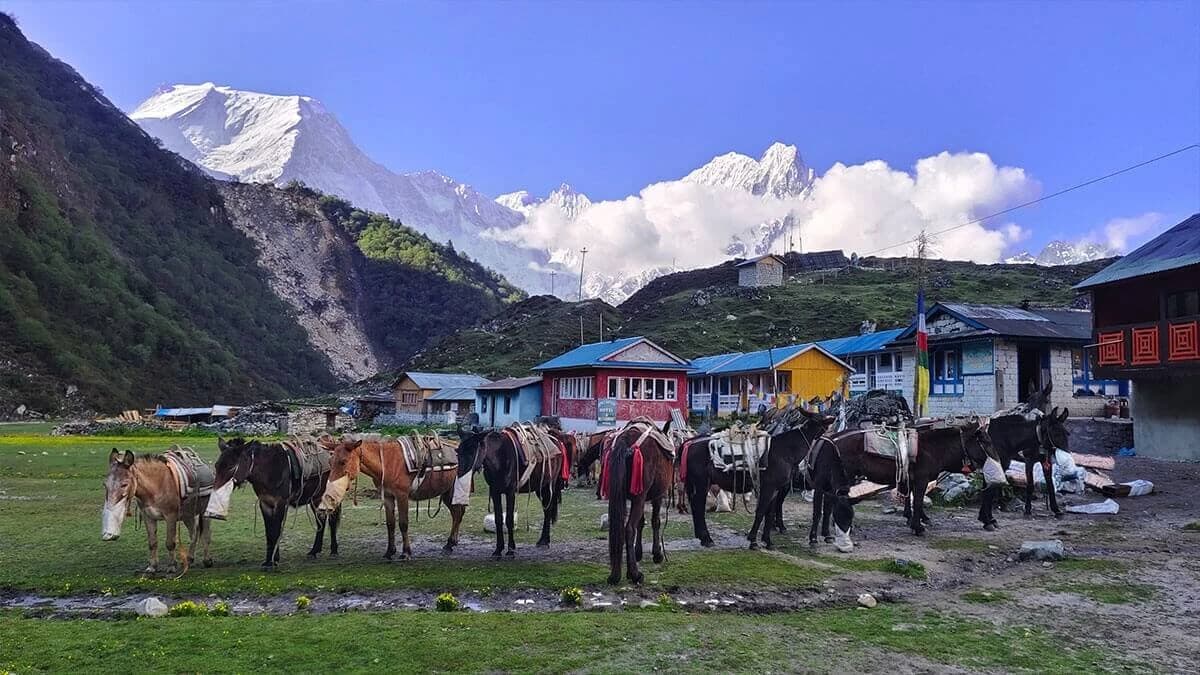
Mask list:
[[[904,330],[875,330],[875,325],[870,324],[869,330],[860,335],[833,338],[817,345],[854,369],[850,376],[851,396],[884,389],[902,395],[912,407],[917,351],[912,345],[892,344]]]

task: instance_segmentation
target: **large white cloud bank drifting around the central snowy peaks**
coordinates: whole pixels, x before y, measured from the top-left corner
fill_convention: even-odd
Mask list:
[[[960,226],[1037,196],[1024,169],[997,167],[982,153],[942,153],[919,160],[912,172],[883,161],[834,165],[804,197],[776,198],[684,180],[656,183],[624,199],[596,202],[570,221],[554,204],[532,209],[512,229],[487,237],[552,251],[552,262],[571,263],[589,250],[588,268],[605,274],[652,267],[712,265],[726,259],[731,239],[755,241],[769,223],[788,215],[799,225],[805,250],[841,249],[850,255],[902,244],[928,231]],[[985,226],[986,225],[986,226]],[[995,262],[1012,243],[1028,237],[1013,222],[971,225],[936,237],[941,257]],[[781,237],[781,228],[766,235]],[[779,251],[776,243],[773,247]]]

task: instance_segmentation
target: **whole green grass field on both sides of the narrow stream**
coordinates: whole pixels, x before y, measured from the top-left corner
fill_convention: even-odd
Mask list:
[[[235,492],[230,519],[214,524],[214,568],[197,567],[180,579],[146,577],[139,572],[145,566],[145,536],[132,521],[119,540],[100,540],[107,455],[113,447],[162,450],[175,440],[52,437],[40,431],[44,429],[0,426],[0,593],[10,597],[152,592],[211,604],[212,598],[296,593],[328,597],[413,590],[480,596],[505,590],[557,593],[571,586],[606,590],[604,532],[598,527],[604,506],[586,489],[568,492],[550,552],[534,551],[538,527],[524,527],[522,501],[518,557],[503,561],[487,555],[493,539],[482,532],[486,510],[478,491],[461,550],[449,557],[440,554],[448,514],[431,519],[422,508],[414,522],[416,560],[403,563],[382,558],[384,528],[373,500],[348,506],[341,556],[334,560],[304,558],[312,527],[305,512],[293,512],[283,539],[283,566],[276,573],[258,568],[262,524],[256,519],[253,492],[244,489]],[[215,440],[184,442],[205,456],[216,454]],[[368,485],[361,484],[364,494]],[[749,521],[746,513],[738,512],[720,514],[710,524],[732,536],[744,532]],[[779,538],[782,552],[749,551],[740,544],[734,550],[680,550],[691,540],[691,525],[677,514],[671,515],[666,536],[676,542],[666,563],[647,560],[643,567],[648,597],[665,593],[666,608],[634,609],[635,603],[620,611],[301,611],[162,620],[44,619],[0,610],[0,671],[880,670],[889,663],[913,670],[938,664],[1097,670],[1118,663],[1103,647],[1052,629],[905,604],[863,610],[852,607],[853,596],[840,605],[772,614],[683,608],[670,597],[708,591],[816,596],[827,584],[856,574],[874,574],[876,580],[883,575],[896,587],[925,584],[928,574],[919,563],[810,552],[794,543],[798,533]],[[350,646],[355,641],[360,644]],[[34,644],[37,649],[30,649]]]

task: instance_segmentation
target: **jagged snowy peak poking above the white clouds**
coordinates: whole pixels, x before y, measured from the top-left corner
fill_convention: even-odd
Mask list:
[[[727,153],[684,177],[684,180],[734,187],[751,195],[798,197],[809,191],[815,172],[804,163],[796,145],[774,143],[755,160]]]

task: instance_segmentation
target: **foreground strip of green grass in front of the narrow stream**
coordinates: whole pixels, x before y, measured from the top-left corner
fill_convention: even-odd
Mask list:
[[[359,649],[350,646],[355,641]],[[46,621],[0,614],[0,669],[12,671],[206,671],[216,664],[223,671],[301,673],[876,670],[886,663],[878,650],[966,669],[1121,667],[1112,653],[1039,628],[894,605],[760,616],[352,613]]]

